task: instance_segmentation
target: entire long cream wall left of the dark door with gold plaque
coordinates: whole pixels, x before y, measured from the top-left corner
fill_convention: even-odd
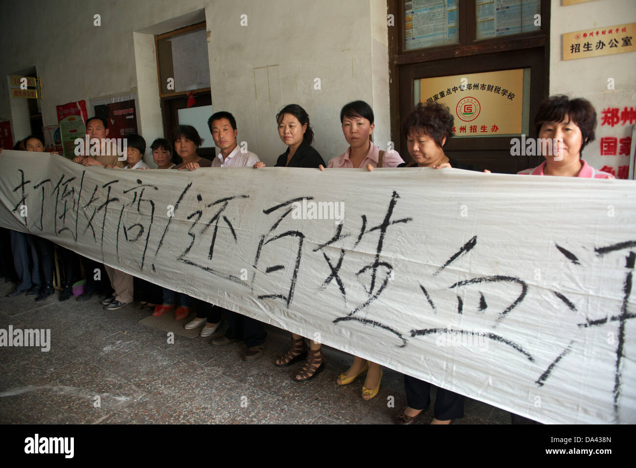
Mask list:
[[[371,104],[376,139],[381,146],[389,141],[386,0],[6,2],[3,11],[10,13],[0,17],[0,31],[13,38],[28,34],[0,48],[0,74],[37,67],[44,125],[57,124],[59,104],[138,92],[141,132],[149,143],[162,133],[152,35],[182,25],[172,18],[194,18],[202,9],[211,32],[212,105],[235,115],[239,139],[266,163],[286,149],[274,116],[291,102],[308,111],[314,146],[326,161],[347,148],[339,114],[350,100]],[[242,14],[246,27],[240,26]],[[9,99],[5,88],[0,117],[11,118]]]

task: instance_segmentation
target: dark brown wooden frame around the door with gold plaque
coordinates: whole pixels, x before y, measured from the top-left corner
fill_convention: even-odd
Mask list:
[[[474,40],[475,25],[471,21],[474,17],[474,0],[459,0],[460,9],[464,11],[464,15],[460,14],[459,17],[459,44],[412,51],[405,51],[403,48],[403,0],[389,0],[387,3],[388,13],[392,14],[395,20],[395,26],[389,27],[391,136],[404,160],[410,160],[410,155],[406,149],[406,141],[401,135],[401,121],[415,107],[412,81],[413,76],[416,76],[415,71],[417,78],[431,78],[530,67],[529,134],[536,136],[532,119],[536,115],[539,103],[548,97],[550,92],[550,0],[541,0],[541,31],[481,41]],[[525,57],[515,59],[518,53]],[[494,63],[497,60],[499,64]],[[462,63],[462,66],[457,67],[458,63]],[[449,65],[445,67],[445,64]],[[425,71],[427,68],[436,72]],[[466,151],[470,146],[471,149],[483,150],[487,145],[487,149],[508,149],[509,137],[450,139],[448,149]],[[541,156],[528,156],[527,167],[537,165],[541,160]]]

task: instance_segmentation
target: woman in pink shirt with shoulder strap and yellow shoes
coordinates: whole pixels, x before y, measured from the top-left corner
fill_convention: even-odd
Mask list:
[[[345,135],[349,148],[344,154],[329,160],[328,168],[357,169],[366,167],[373,170],[374,167],[397,167],[404,161],[397,151],[382,151],[373,144],[373,109],[363,100],[349,102],[340,111],[340,123],[342,133]],[[321,170],[324,168],[321,166]],[[349,385],[366,371],[366,379],[362,387],[362,397],[370,400],[378,394],[382,381],[382,368],[380,364],[367,361],[355,356],[351,367],[336,379],[338,385]]]

